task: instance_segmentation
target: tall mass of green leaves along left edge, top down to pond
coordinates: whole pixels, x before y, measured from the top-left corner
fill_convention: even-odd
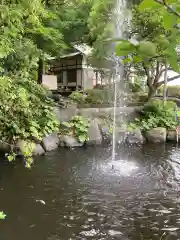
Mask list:
[[[55,13],[40,0],[1,1],[0,19],[0,139],[12,151],[19,139],[24,140],[23,152],[29,167],[34,142],[58,127],[53,103],[47,91],[36,83],[32,71],[37,69],[39,57],[48,52],[43,43],[55,46],[62,41],[57,38],[58,31],[49,26],[57,19]],[[42,45],[40,39],[44,39]],[[8,159],[14,157],[12,152]]]

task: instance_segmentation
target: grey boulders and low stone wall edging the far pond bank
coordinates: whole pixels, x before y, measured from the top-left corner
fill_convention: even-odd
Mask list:
[[[130,118],[136,117],[139,107],[124,107],[117,108],[117,119],[122,117]],[[58,133],[52,133],[46,136],[41,143],[37,143],[34,155],[42,155],[45,152],[55,150],[58,147],[81,147],[86,145],[99,145],[103,142],[112,141],[112,133],[110,133],[110,127],[112,127],[112,121],[104,121],[104,119],[112,119],[114,109],[111,108],[55,108],[55,113],[60,122],[67,122],[75,115],[81,115],[89,119],[90,125],[88,129],[89,140],[86,143],[80,143],[74,136],[61,135]],[[111,126],[110,126],[111,125]],[[128,144],[143,144],[146,140],[152,143],[162,143],[168,141],[176,141],[176,131],[167,131],[165,128],[154,128],[142,134],[139,129],[127,130],[126,128],[116,127],[116,141],[126,142]],[[180,139],[180,134],[179,134]],[[16,148],[20,153],[22,152],[23,140],[19,140],[16,144]],[[8,151],[5,144],[0,144],[0,150]]]

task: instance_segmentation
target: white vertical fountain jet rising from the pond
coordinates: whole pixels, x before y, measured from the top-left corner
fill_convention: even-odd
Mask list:
[[[125,29],[125,16],[126,2],[125,0],[117,0],[115,8],[115,39],[124,38],[124,29]],[[124,107],[124,98],[123,98],[123,64],[122,60],[119,57],[115,57],[115,76],[114,76],[114,111],[113,111],[113,142],[112,142],[112,160],[115,160],[116,156],[116,113],[117,113],[117,96],[120,94],[120,107]]]

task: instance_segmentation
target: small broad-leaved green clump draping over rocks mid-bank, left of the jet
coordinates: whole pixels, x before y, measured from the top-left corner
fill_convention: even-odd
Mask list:
[[[69,122],[64,122],[60,128],[60,134],[77,137],[79,142],[88,141],[89,122],[82,116],[74,116]]]

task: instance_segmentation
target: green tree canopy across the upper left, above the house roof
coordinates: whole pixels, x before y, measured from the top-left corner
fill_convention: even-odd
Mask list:
[[[108,24],[112,2],[3,1],[0,56],[6,72],[22,71],[21,67],[26,71],[27,66],[29,70],[32,60],[46,54],[58,56],[71,42],[86,42],[102,56],[100,42],[112,30]]]

